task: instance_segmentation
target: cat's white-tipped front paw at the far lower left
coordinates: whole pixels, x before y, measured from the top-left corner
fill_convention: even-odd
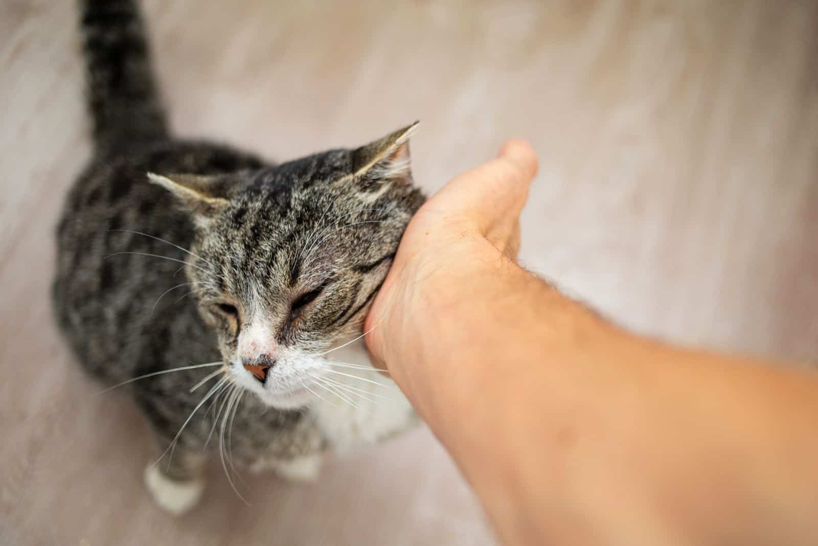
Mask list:
[[[177,447],[145,469],[145,485],[166,512],[181,516],[195,507],[205,490],[204,454]]]

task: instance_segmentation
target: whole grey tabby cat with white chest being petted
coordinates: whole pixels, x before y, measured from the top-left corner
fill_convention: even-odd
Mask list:
[[[94,152],[57,227],[54,309],[83,368],[127,383],[150,423],[155,501],[193,508],[213,454],[228,478],[312,479],[326,450],[416,423],[361,340],[425,201],[416,123],[279,164],[175,138],[137,2],[80,9]]]

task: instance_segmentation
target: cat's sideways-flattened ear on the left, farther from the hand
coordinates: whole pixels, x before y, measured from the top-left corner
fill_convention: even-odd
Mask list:
[[[231,181],[224,176],[148,172],[148,180],[169,190],[191,212],[198,226],[207,224],[230,204]]]

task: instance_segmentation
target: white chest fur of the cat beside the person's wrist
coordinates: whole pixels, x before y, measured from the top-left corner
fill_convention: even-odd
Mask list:
[[[333,351],[331,356],[338,363],[369,368],[330,365],[325,377],[339,384],[322,388],[324,400],[310,406],[321,434],[335,450],[381,440],[416,422],[414,410],[398,387],[371,368],[363,340]]]

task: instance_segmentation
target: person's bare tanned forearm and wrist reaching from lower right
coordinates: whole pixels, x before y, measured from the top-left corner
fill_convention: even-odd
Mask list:
[[[807,537],[811,375],[646,342],[467,248],[413,272],[386,361],[507,543]]]

